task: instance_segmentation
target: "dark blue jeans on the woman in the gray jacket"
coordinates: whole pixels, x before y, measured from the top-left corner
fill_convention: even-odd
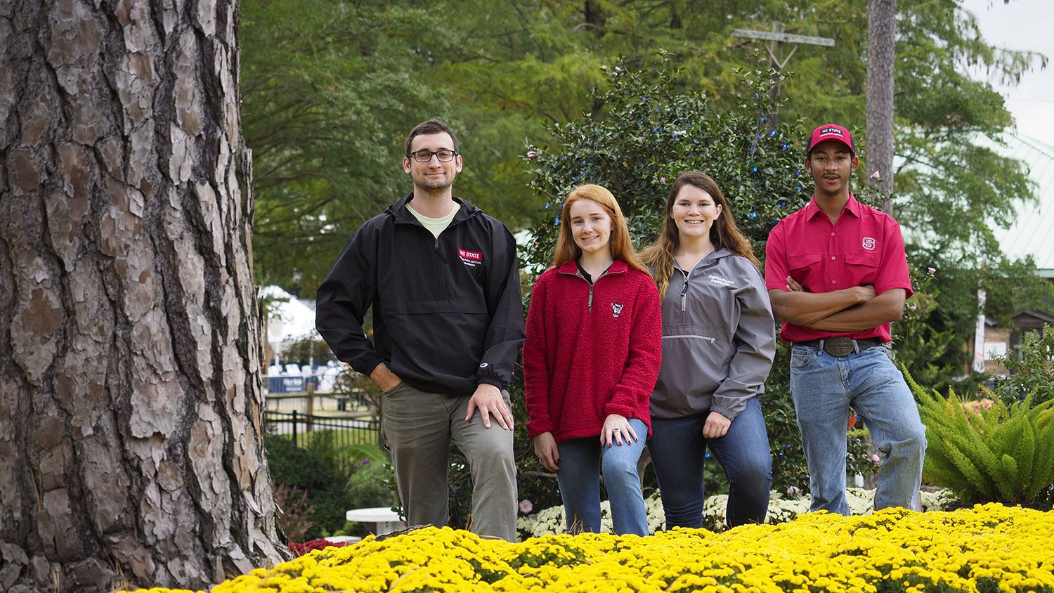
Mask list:
[[[709,414],[685,418],[651,418],[651,467],[659,478],[666,529],[703,527],[703,468],[706,448],[714,452],[728,478],[728,527],[765,522],[773,485],[768,433],[757,397],[733,419],[721,438],[703,436]]]

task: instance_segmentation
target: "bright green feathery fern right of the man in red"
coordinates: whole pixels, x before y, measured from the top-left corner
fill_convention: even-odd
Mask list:
[[[954,391],[944,398],[906,376],[926,427],[922,473],[928,480],[968,505],[1033,502],[1049,491],[1054,483],[1054,400],[1033,407],[1028,398],[1010,406],[996,398],[988,409],[967,407]]]

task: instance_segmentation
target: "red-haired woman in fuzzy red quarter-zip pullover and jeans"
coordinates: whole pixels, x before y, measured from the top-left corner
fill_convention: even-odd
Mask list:
[[[557,473],[567,531],[600,531],[600,473],[618,534],[648,534],[637,462],[661,360],[659,293],[609,191],[567,196],[552,266],[527,313],[528,435]]]

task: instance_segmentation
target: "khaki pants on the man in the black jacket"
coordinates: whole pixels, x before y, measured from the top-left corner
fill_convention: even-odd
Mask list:
[[[509,393],[502,391],[505,404]],[[479,411],[465,421],[470,396],[425,393],[402,382],[380,398],[380,436],[391,450],[407,523],[443,527],[449,517],[450,442],[468,459],[472,521],[479,535],[516,540],[516,468],[512,431]]]

